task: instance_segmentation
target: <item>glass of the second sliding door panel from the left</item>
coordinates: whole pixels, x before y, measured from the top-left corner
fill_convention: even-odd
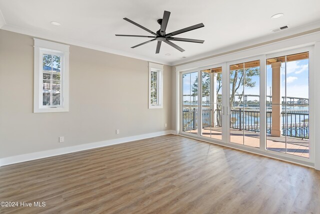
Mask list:
[[[201,71],[201,135],[214,139],[222,139],[221,104],[222,104],[222,68]]]

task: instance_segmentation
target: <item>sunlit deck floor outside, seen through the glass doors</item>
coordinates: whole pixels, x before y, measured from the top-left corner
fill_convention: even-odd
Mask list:
[[[188,132],[196,134],[197,130],[190,130]],[[201,135],[205,137],[210,137],[219,140],[222,139],[220,127],[214,127],[211,128],[211,130],[210,128],[203,128],[201,129],[201,133]],[[259,133],[245,131],[243,137],[243,131],[230,129],[230,142],[258,148]],[[287,154],[309,158],[308,140],[301,138],[286,137],[286,142]],[[268,150],[285,153],[285,137],[272,137],[268,135],[266,138],[266,148]]]

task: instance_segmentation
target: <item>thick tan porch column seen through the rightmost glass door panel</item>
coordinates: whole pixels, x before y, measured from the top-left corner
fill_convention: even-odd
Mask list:
[[[271,64],[272,68],[272,127],[271,136],[281,137],[281,62]]]

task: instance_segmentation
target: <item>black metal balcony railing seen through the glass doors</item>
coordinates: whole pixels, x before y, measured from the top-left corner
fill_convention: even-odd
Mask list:
[[[202,128],[211,127],[211,109],[202,110]],[[221,110],[214,111],[215,126],[221,127]],[[230,128],[251,132],[259,132],[259,111],[231,110]],[[197,129],[197,109],[182,111],[182,131]],[[301,112],[281,112],[282,135],[309,138],[309,114]],[[266,112],[266,132],[270,134],[272,128],[272,114]]]

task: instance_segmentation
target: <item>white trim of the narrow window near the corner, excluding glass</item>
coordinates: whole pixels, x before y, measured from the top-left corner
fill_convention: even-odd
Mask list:
[[[151,105],[151,71],[158,73],[157,78],[157,105]],[[163,108],[163,65],[150,63],[149,62],[149,76],[148,76],[148,84],[149,84],[149,91],[148,91],[148,106],[149,109],[152,108]]]

